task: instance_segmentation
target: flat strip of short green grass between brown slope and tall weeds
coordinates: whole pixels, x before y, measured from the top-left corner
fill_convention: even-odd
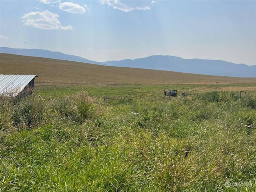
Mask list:
[[[255,84],[170,84],[170,85],[67,85],[50,84],[40,85],[35,88],[36,94],[47,98],[63,98],[76,94],[81,90],[87,92],[89,96],[96,98],[122,96],[128,98],[164,98],[164,89],[178,90],[178,96],[182,93],[201,94],[209,91],[230,90],[240,94],[240,90],[248,94],[255,94]]]

